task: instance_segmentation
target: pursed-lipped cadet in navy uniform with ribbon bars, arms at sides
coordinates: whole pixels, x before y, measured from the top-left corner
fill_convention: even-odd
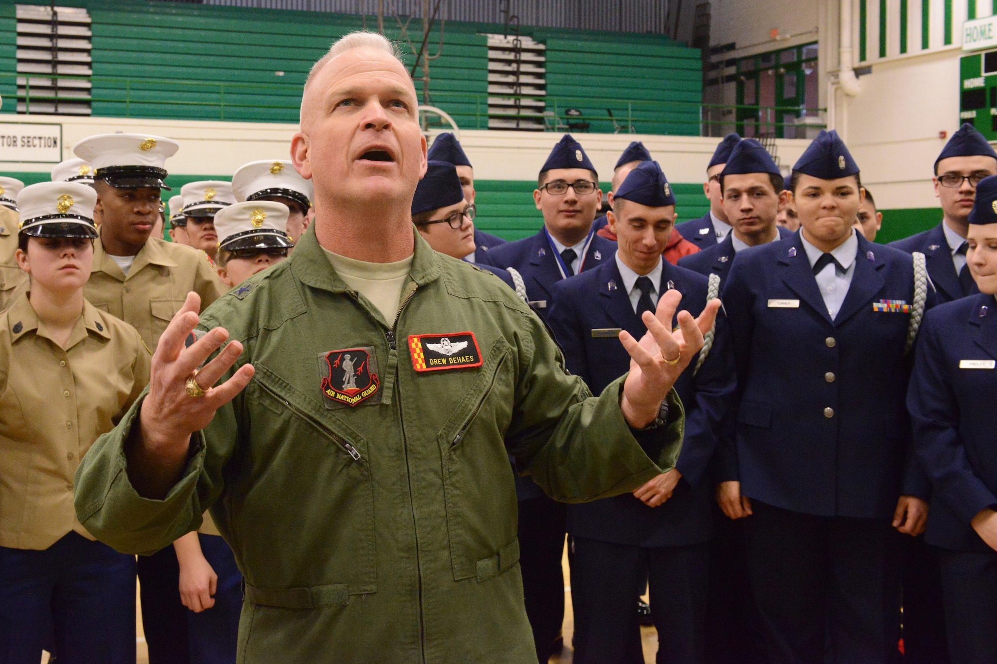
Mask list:
[[[738,402],[718,496],[747,517],[770,661],[892,661],[891,525],[920,532],[929,491],[909,444],[907,350],[933,291],[909,254],[852,228],[858,166],[835,132],[790,190],[801,231],[738,255],[723,290]]]

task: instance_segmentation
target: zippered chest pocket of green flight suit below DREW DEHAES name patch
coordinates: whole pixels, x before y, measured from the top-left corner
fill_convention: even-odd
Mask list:
[[[484,357],[438,436],[455,580],[485,580],[507,570],[515,557],[509,548],[516,535],[510,518],[515,486],[503,441],[514,401],[513,360],[502,338]]]

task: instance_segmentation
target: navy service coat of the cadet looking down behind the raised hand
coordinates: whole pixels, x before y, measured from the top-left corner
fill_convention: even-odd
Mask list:
[[[707,278],[662,261],[659,292],[682,293],[679,310],[698,316],[706,306]],[[614,328],[636,339],[646,332],[634,313],[615,260],[558,282],[547,323],[564,352],[568,371],[598,390],[625,374],[630,355]],[[606,336],[593,336],[602,330]],[[598,332],[596,332],[598,334]],[[672,498],[648,507],[632,495],[568,505],[567,530],[575,536],[639,546],[680,546],[713,536],[713,482],[707,466],[717,448],[721,421],[734,395],[734,355],[727,322],[721,314],[713,349],[700,372],[682,374],[675,389],[686,409],[686,430],[676,468],[682,473]]]

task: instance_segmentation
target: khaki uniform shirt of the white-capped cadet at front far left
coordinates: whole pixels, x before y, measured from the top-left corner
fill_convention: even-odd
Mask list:
[[[22,294],[0,314],[0,546],[48,548],[76,519],[73,474],[149,383],[135,328],[84,302],[56,344]]]

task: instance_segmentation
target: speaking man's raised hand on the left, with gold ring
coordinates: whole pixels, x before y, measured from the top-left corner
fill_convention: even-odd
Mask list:
[[[160,337],[153,354],[149,394],[142,404],[141,427],[137,428],[141,429],[141,439],[133,429],[126,447],[129,477],[136,491],[146,498],[166,496],[186,463],[190,435],[206,427],[215,411],[234,399],[253,375],[252,365],[243,365],[227,381],[214,386],[242,354],[242,344],[229,343],[201,367],[228,339],[228,332],[216,327],[185,346],[187,336],[197,325],[199,308],[200,297],[187,293],[183,306]],[[203,392],[202,396],[190,396],[187,381],[191,377],[195,383],[191,387],[194,392]]]

